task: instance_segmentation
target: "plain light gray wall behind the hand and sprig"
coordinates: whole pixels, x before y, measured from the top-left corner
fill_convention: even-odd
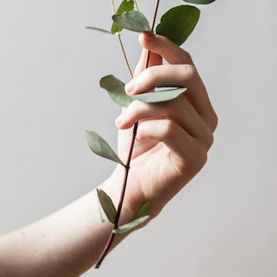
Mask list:
[[[150,18],[154,1],[138,0]],[[153,2],[153,3],[152,3]],[[119,3],[119,1],[117,1]],[[161,1],[159,16],[184,2]],[[143,230],[84,276],[277,276],[277,3],[217,0],[182,46],[219,117],[208,163]],[[116,146],[120,108],[99,88],[128,80],[106,1],[0,0],[0,233],[105,180],[84,130]],[[123,32],[135,66],[137,34]],[[151,169],[150,169],[151,170]]]

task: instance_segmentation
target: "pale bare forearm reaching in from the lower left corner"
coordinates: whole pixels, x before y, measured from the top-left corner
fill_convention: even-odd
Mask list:
[[[113,181],[100,185],[117,204]],[[123,208],[121,223],[132,218]],[[0,238],[0,276],[79,276],[103,250],[112,224],[101,211],[95,190],[29,226]],[[117,235],[113,246],[125,236]]]

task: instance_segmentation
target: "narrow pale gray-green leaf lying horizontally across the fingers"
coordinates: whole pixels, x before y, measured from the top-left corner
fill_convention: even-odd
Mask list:
[[[186,88],[173,88],[165,91],[156,91],[154,93],[141,93],[134,95],[132,98],[146,103],[157,103],[175,99],[185,91]]]

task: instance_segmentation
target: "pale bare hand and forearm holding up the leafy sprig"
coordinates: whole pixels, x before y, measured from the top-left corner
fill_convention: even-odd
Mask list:
[[[128,156],[132,125],[139,121],[120,224],[148,201],[152,213],[145,226],[205,165],[217,116],[189,53],[162,36],[141,34],[139,41],[144,50],[126,93],[162,86],[188,88],[177,99],[160,104],[134,101],[116,119],[122,160]],[[149,69],[143,70],[145,49],[152,53]],[[162,65],[162,59],[169,64]],[[115,205],[123,173],[117,165],[98,186]],[[56,213],[0,237],[0,276],[80,276],[95,264],[111,230],[94,189]],[[117,235],[113,247],[125,237]]]

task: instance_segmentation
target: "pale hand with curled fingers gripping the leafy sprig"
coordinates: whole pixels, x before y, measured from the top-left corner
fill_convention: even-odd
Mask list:
[[[189,53],[162,36],[141,34],[139,41],[144,50],[136,77],[125,86],[128,95],[162,86],[187,88],[186,93],[167,102],[136,100],[116,119],[118,152],[123,160],[130,149],[132,126],[139,121],[124,206],[135,211],[149,201],[155,217],[206,163],[217,116]],[[143,70],[145,49],[151,51],[150,67]],[[169,65],[162,65],[162,58]],[[111,176],[118,194],[124,170],[119,165]]]

